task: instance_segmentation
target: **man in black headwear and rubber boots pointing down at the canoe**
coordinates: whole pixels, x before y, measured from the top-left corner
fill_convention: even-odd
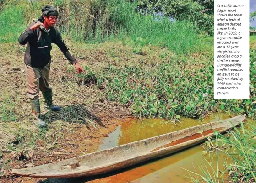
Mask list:
[[[52,103],[52,88],[49,86],[51,43],[58,45],[69,62],[75,64],[78,73],[83,72],[76,58],[68,51],[60,33],[54,28],[57,17],[58,12],[54,7],[45,6],[38,22],[33,22],[19,37],[20,44],[27,44],[25,51],[27,95],[31,101],[33,121],[39,127],[46,126],[40,118],[39,90],[43,93],[45,107],[52,111],[60,110],[60,107]]]

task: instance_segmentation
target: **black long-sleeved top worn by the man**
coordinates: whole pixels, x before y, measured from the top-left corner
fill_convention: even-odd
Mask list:
[[[30,29],[31,26],[36,24],[33,22],[27,29],[20,35],[19,43],[22,45],[27,44],[25,51],[25,64],[36,68],[43,68],[51,60],[51,43],[55,43],[63,52],[65,57],[71,64],[76,63],[76,58],[70,54],[69,49],[63,42],[60,33],[54,28],[50,27],[49,30]]]

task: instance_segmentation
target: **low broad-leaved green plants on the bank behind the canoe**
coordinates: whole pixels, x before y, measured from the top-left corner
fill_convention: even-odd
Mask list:
[[[180,60],[182,56],[178,59],[165,51],[159,54],[164,60],[160,63],[147,64],[142,60],[137,66],[110,65],[93,74],[108,100],[131,105],[132,113],[138,117],[198,118],[212,110],[223,110],[254,118],[255,49],[250,50],[250,99],[214,99],[213,58],[207,56],[208,53],[200,60],[189,57]],[[89,75],[91,70],[79,77],[86,80]]]

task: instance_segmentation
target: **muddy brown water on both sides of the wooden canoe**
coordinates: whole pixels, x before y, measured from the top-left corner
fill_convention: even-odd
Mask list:
[[[174,125],[170,121],[154,120],[133,120],[128,119],[125,123],[103,139],[103,144],[99,146],[100,150],[126,144],[145,138],[162,135],[172,131],[178,131],[195,125],[228,119],[227,114],[212,114],[203,121],[189,118],[182,118],[182,124]],[[185,183],[190,182],[187,171],[198,171],[202,164],[203,147],[194,146],[185,151],[175,153],[168,157],[163,157],[152,162],[146,162],[140,165],[129,167],[113,173],[108,173],[92,178],[75,179],[48,179],[45,183]],[[208,155],[205,156],[209,159]],[[214,159],[215,158],[215,159]],[[219,154],[218,161],[223,165],[225,156]],[[213,157],[213,165],[216,164],[216,157]],[[182,169],[185,168],[185,169]]]

